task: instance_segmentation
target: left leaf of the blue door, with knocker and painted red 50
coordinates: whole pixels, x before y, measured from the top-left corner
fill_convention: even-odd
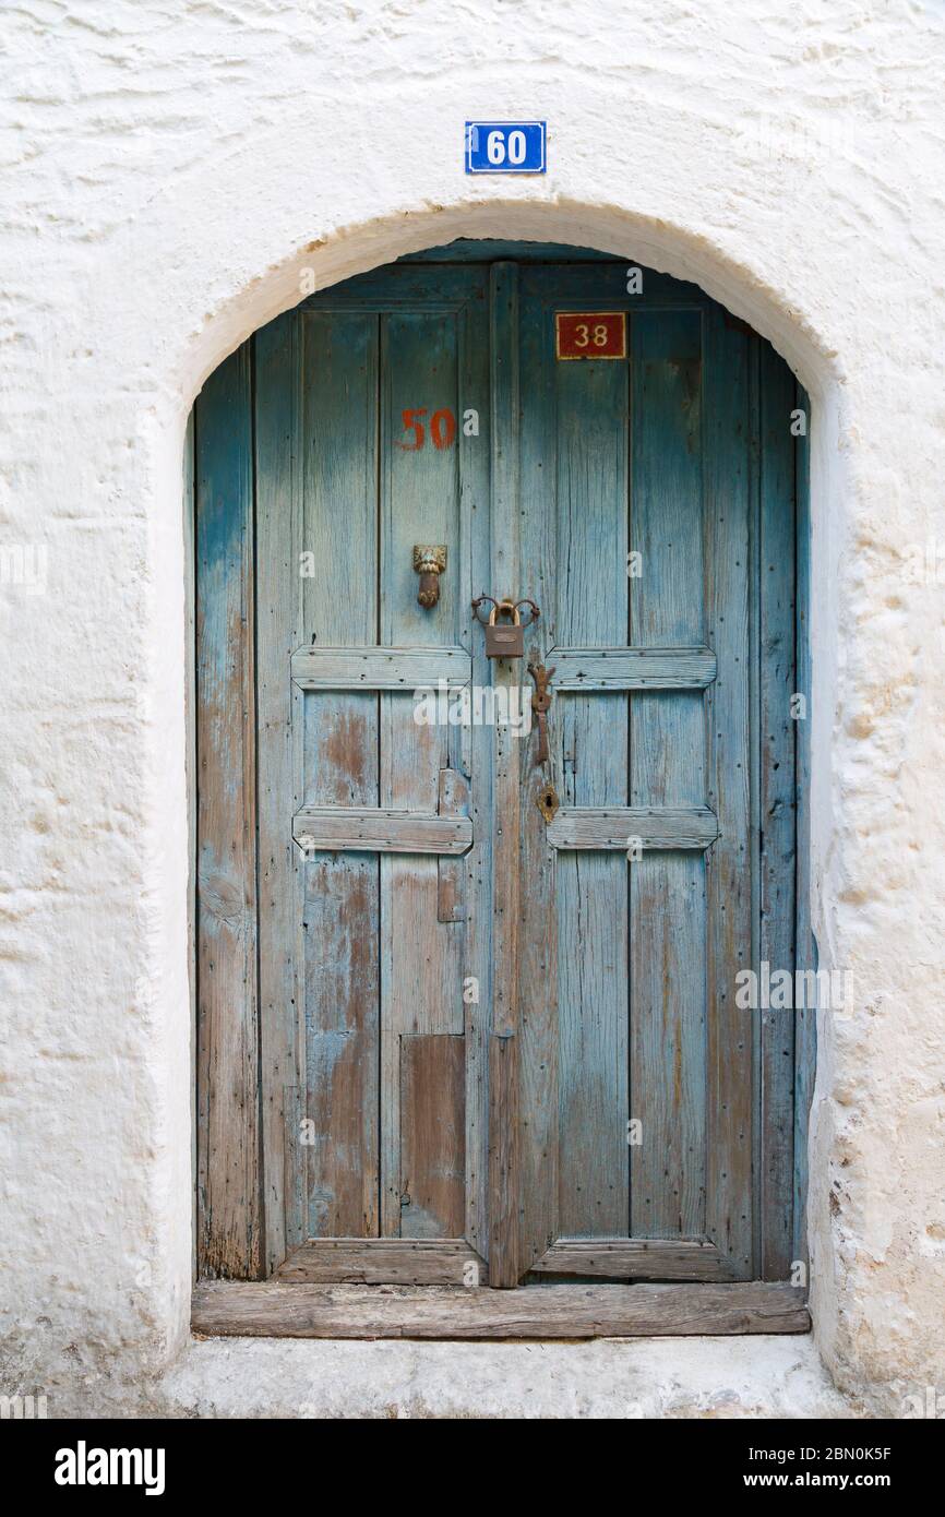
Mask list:
[[[353,308],[303,306],[284,319],[294,323],[294,378],[267,372],[270,387],[256,397],[259,432],[273,435],[270,413],[282,390],[293,393],[279,420],[297,461],[291,492],[259,481],[267,522],[279,511],[282,528],[270,526],[281,575],[267,576],[259,620],[278,622],[297,595],[297,640],[288,663],[281,658],[291,696],[279,715],[293,733],[281,816],[293,857],[281,862],[299,881],[293,1000],[305,1097],[285,1107],[303,1132],[288,1189],[303,1191],[296,1239],[305,1247],[306,1238],[463,1236],[467,1211],[476,1241],[482,1230],[475,1054],[473,1073],[466,1068],[481,1035],[467,1038],[463,1000],[464,974],[482,971],[481,928],[464,910],[473,752],[469,734],[417,724],[413,701],[417,686],[457,686],[472,674],[481,534],[463,517],[481,472],[457,423],[461,375],[466,397],[487,413],[482,356],[464,335],[476,284],[454,272],[440,299],[428,279],[416,309],[363,296]],[[416,294],[407,296],[410,305]],[[422,434],[405,428],[407,410]],[[487,529],[487,513],[481,519]],[[417,542],[447,545],[432,611],[417,604]],[[261,733],[264,755],[281,731]],[[454,857],[437,857],[444,853]],[[278,884],[276,865],[273,897]],[[444,1277],[455,1277],[457,1258],[444,1256]],[[375,1256],[375,1276],[402,1267],[390,1253],[385,1261]]]

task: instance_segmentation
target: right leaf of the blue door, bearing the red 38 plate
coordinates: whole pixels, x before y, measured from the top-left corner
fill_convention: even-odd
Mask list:
[[[655,1267],[645,1241],[658,1239],[660,1268],[672,1256],[683,1274],[749,1277],[755,1029],[733,1015],[757,848],[748,346],[705,303],[623,300],[628,372],[555,363],[554,309],[581,296],[593,309],[593,278],[529,272],[522,305],[522,446],[542,481],[523,490],[523,557],[540,564],[525,564],[525,593],[552,605],[538,655],[564,655],[551,718],[561,810],[543,837],[529,816],[523,839],[545,880],[529,889],[528,936],[554,942],[557,997],[543,1015],[525,991],[522,1132],[540,1132],[555,1164],[552,1182],[526,1144],[522,1253],[538,1273],[567,1273],[579,1241],[601,1239],[589,1273],[639,1276]],[[642,558],[629,583],[628,548]],[[778,573],[786,583],[790,566]],[[649,663],[648,649],[660,651]],[[631,837],[645,851],[628,866]],[[557,1121],[535,1112],[538,1094]],[[626,1144],[628,1121],[642,1142]]]

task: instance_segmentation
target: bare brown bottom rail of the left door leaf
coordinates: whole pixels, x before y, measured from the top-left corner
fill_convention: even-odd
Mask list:
[[[464,1238],[309,1238],[276,1276],[296,1285],[488,1283],[485,1261]]]

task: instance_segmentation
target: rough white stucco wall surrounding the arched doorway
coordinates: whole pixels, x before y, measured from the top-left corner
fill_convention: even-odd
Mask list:
[[[856,985],[821,1027],[816,1343],[857,1405],[945,1390],[945,586],[906,573],[945,557],[945,5],[23,0],[0,29],[0,1390],[91,1409],[187,1340],[193,396],[302,267],[457,235],[696,279],[812,391],[815,927]],[[467,179],[476,114],[546,117],[546,177]],[[279,1384],[267,1346],[194,1352],[181,1405],[232,1405],[234,1364]],[[667,1352],[705,1409],[702,1350]],[[783,1408],[783,1358],[713,1374]]]

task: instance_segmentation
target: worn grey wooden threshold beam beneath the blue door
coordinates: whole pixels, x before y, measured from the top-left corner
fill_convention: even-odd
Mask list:
[[[209,1280],[194,1332],[240,1338],[649,1338],[808,1332],[804,1292],[768,1282],[508,1291]]]

